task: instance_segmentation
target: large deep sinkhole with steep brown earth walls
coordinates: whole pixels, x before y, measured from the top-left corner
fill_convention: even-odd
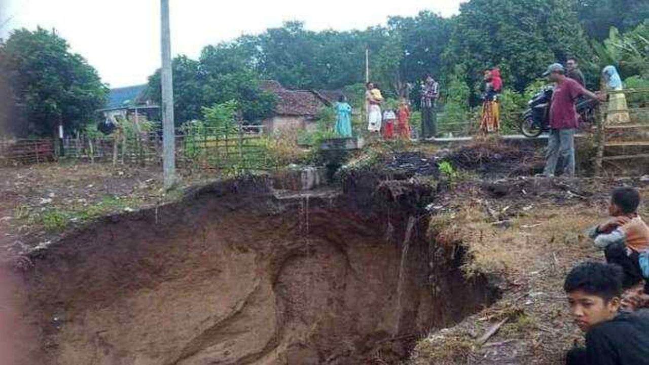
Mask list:
[[[67,235],[22,274],[19,363],[385,363],[495,299],[426,238],[430,192],[368,185],[217,183]]]

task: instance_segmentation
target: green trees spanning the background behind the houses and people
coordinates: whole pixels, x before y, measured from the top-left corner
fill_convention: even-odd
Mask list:
[[[413,111],[419,108],[422,75],[441,82],[441,125],[475,118],[482,71],[499,67],[503,130],[511,131],[530,86],[537,92],[545,67],[569,56],[578,58],[591,89],[599,87],[607,64],[618,66],[630,84],[646,84],[648,17],[649,5],[642,0],[471,0],[452,18],[423,11],[364,30],[315,32],[289,21],[207,45],[197,60],[175,58],[176,121],[206,122],[204,107],[236,101],[241,118],[256,123],[271,116],[276,103],[262,81],[276,80],[287,88],[345,90],[356,110],[354,132],[363,131],[367,50],[371,79],[387,98],[409,97]],[[23,134],[51,135],[58,121],[78,131],[103,105],[106,88],[96,71],[51,32],[14,31],[0,43],[0,60],[0,91],[12,92],[16,100],[0,101],[0,118],[18,121]],[[147,94],[160,101],[159,70],[149,77]],[[20,104],[25,108],[16,108]],[[319,127],[318,133],[326,131]]]

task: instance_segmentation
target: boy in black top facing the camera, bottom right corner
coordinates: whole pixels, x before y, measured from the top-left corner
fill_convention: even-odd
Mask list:
[[[649,365],[649,319],[619,312],[622,272],[617,265],[584,262],[563,289],[570,314],[586,334],[586,347],[567,353],[567,365]]]

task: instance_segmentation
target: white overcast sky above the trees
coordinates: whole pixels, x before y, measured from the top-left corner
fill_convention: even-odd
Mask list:
[[[387,16],[458,12],[461,0],[170,0],[171,49],[197,58],[202,47],[256,34],[287,20],[306,28],[365,29]],[[372,4],[369,6],[369,4]],[[112,87],[142,84],[160,67],[158,0],[0,0],[0,36],[18,27],[56,29]]]

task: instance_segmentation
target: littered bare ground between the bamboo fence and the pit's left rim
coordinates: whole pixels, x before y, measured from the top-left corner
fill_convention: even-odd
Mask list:
[[[187,176],[182,183],[204,179]],[[162,174],[156,166],[84,163],[2,168],[0,196],[0,258],[56,240],[66,229],[87,223],[87,218],[177,198],[162,191]],[[43,224],[47,214],[60,217],[60,222]]]

